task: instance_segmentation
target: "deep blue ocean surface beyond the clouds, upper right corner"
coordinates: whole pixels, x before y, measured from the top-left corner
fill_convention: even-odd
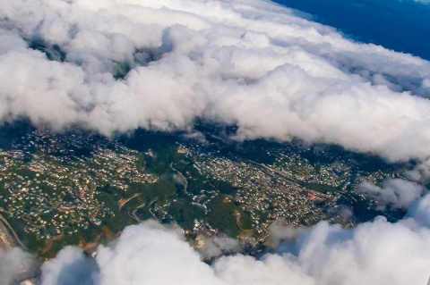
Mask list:
[[[413,0],[275,0],[349,38],[430,60],[430,4]]]

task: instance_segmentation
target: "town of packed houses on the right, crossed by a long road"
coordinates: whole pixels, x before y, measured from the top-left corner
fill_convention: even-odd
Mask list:
[[[279,219],[297,226],[326,220],[352,227],[355,224],[352,216],[336,214],[340,198],[354,191],[363,180],[378,183],[387,177],[400,176],[397,172],[355,173],[348,163],[340,161],[315,166],[301,157],[300,151],[288,147],[268,151],[274,157],[271,164],[208,152],[199,144],[180,145],[178,152],[193,157],[195,169],[206,179],[226,181],[236,189],[230,198],[250,215],[259,240],[267,238],[269,225]],[[211,196],[204,194],[195,196],[199,201],[206,198],[200,202],[202,206],[211,201]]]

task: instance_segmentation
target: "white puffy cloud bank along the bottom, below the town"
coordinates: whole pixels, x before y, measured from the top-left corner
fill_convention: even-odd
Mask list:
[[[406,219],[383,217],[353,230],[320,222],[261,258],[201,261],[181,231],[154,221],[130,226],[95,259],[65,247],[43,266],[42,285],[426,284],[430,276],[430,196]]]

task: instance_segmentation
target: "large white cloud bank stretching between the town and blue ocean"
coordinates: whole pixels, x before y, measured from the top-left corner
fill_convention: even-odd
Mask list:
[[[111,135],[189,130],[203,118],[237,124],[239,139],[302,138],[392,161],[430,155],[429,62],[271,2],[0,5],[0,122]]]

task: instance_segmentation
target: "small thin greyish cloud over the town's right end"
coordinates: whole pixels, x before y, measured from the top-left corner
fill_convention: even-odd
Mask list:
[[[412,202],[427,192],[422,185],[401,179],[385,180],[382,188],[365,181],[358,185],[357,190],[380,202],[378,207],[382,210],[386,205],[407,210]]]

